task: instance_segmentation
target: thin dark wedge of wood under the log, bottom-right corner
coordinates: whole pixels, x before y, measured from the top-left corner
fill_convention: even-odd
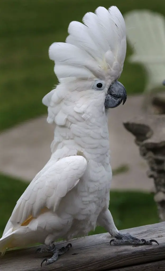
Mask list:
[[[107,271],[164,271],[165,270],[165,260],[158,262],[138,264],[134,266],[126,266],[121,268],[109,269]]]

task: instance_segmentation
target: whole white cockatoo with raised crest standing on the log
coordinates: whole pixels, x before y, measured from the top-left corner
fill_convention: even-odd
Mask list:
[[[152,244],[121,234],[109,211],[112,170],[109,163],[107,110],[126,101],[117,81],[126,54],[125,22],[117,7],[98,7],[83,23],[69,24],[65,43],[53,43],[59,84],[43,98],[49,123],[55,122],[52,155],[35,176],[9,218],[0,251],[43,243],[52,263],[71,244],[57,250],[54,242],[84,236],[103,226],[114,244]],[[42,264],[41,263],[41,264]]]

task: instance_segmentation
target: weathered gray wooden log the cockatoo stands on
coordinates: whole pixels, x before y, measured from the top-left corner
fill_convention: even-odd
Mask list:
[[[131,219],[131,218],[130,218]],[[142,239],[156,239],[152,246],[110,246],[108,233],[72,240],[72,249],[59,257],[57,262],[41,265],[48,254],[35,254],[37,247],[8,251],[0,258],[1,271],[154,271],[165,270],[165,222],[146,225],[121,232]],[[57,248],[64,242],[58,242]],[[42,247],[42,246],[39,246]]]

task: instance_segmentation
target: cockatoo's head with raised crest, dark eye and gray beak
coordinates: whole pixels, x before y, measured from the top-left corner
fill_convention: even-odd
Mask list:
[[[95,13],[85,14],[83,23],[71,22],[68,33],[65,43],[49,48],[59,85],[43,103],[49,108],[50,102],[58,106],[65,99],[79,108],[95,103],[105,109],[124,104],[127,93],[118,78],[125,60],[126,30],[118,8],[98,7]]]

